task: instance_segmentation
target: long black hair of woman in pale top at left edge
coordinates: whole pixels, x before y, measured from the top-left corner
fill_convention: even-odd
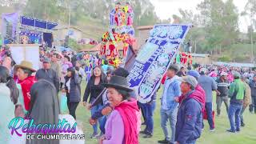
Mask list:
[[[0,83],[6,83],[10,89],[10,99],[14,105],[18,102],[18,88],[14,78],[10,76],[9,70],[5,66],[0,66]]]

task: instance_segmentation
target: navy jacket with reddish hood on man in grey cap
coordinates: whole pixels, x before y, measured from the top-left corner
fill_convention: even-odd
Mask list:
[[[194,142],[202,132],[202,106],[198,102],[198,90],[187,94],[178,108],[175,141],[186,144]]]

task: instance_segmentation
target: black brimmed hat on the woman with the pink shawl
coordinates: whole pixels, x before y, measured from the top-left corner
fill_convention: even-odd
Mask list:
[[[120,76],[112,76],[110,78],[110,82],[103,84],[105,87],[113,87],[118,90],[126,90],[126,91],[132,91],[130,89],[127,79]]]

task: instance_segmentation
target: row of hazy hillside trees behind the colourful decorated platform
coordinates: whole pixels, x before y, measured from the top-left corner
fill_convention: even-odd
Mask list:
[[[5,1],[5,0],[2,0]],[[75,25],[84,17],[98,19],[104,25],[109,24],[109,14],[115,6],[112,0],[24,0],[24,13],[34,18],[48,19]],[[154,6],[147,0],[128,0],[134,8],[134,25],[153,25],[159,19],[154,13]],[[125,5],[122,2],[122,5]]]

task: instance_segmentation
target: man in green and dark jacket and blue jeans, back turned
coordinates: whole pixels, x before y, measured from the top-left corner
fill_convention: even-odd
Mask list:
[[[234,82],[230,85],[229,98],[229,119],[230,130],[226,130],[230,133],[240,131],[240,113],[242,110],[243,98],[246,94],[246,86],[240,79],[241,75],[238,72],[234,72]],[[235,123],[234,123],[235,122]]]

